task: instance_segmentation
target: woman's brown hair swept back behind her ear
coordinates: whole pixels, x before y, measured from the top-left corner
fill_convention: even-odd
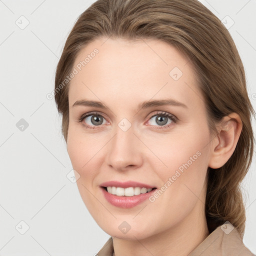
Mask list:
[[[236,112],[242,131],[228,161],[207,170],[205,215],[209,232],[228,220],[243,237],[245,208],[240,182],[253,156],[251,114],[245,74],[235,44],[220,20],[197,0],[97,0],[77,19],[65,42],[55,75],[55,101],[68,135],[68,83],[78,52],[99,37],[159,39],[175,46],[192,62],[207,108],[208,124]],[[61,89],[59,89],[61,88]],[[213,133],[212,133],[213,134]]]

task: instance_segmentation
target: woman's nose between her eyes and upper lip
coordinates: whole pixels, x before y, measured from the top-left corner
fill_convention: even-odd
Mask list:
[[[132,126],[126,131],[116,126],[115,135],[107,143],[107,165],[118,171],[140,167],[143,162],[142,146]]]

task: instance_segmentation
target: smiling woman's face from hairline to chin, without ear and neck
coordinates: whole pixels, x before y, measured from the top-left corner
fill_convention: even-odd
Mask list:
[[[190,61],[159,40],[100,38],[73,67],[67,151],[98,225],[143,239],[203,218],[211,144]]]

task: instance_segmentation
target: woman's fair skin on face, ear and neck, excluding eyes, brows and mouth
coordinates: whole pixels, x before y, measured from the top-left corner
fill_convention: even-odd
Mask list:
[[[74,76],[68,92],[67,151],[81,198],[113,237],[115,256],[187,255],[209,234],[204,214],[207,167],[218,168],[231,156],[241,120],[236,113],[224,117],[212,139],[192,64],[165,42],[99,38],[81,50],[74,67],[94,48],[98,54]],[[183,73],[178,80],[169,75],[173,67]],[[186,107],[137,109],[142,101],[167,98]],[[100,101],[107,109],[72,106],[82,99]],[[102,124],[93,124],[91,116],[78,122],[91,111],[102,115]],[[177,121],[168,118],[162,126],[152,117],[157,111]],[[123,118],[131,124],[127,131],[118,126]],[[109,180],[135,180],[160,189],[198,151],[200,156],[154,202],[119,208],[106,201],[99,188]],[[118,228],[123,221],[130,225],[126,234]]]

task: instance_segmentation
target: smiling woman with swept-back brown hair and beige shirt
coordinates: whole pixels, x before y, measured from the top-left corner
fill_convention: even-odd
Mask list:
[[[197,0],[97,0],[55,101],[98,255],[252,255],[239,184],[253,108],[233,40]]]

